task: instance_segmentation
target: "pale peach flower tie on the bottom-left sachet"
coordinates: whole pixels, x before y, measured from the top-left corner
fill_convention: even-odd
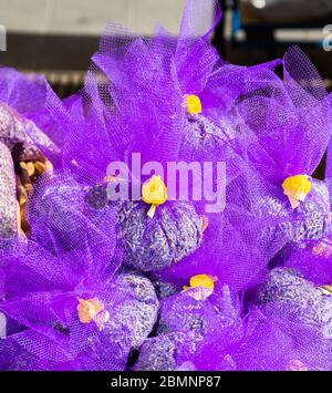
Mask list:
[[[98,299],[81,299],[77,298],[77,313],[80,322],[90,323],[94,321],[100,330],[103,330],[104,323],[110,319],[108,311],[104,310],[104,304]]]

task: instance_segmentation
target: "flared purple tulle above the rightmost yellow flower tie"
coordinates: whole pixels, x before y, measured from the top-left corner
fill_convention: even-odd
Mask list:
[[[248,158],[276,185],[297,174],[312,175],[331,135],[331,95],[295,46],[284,55],[283,81],[270,71],[261,72],[266,74],[262,89],[243,96],[237,106],[248,137]]]

